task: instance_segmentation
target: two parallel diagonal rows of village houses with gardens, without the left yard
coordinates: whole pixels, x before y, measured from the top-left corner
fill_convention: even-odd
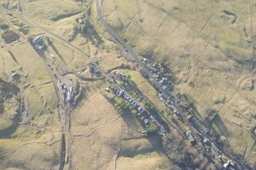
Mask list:
[[[158,82],[169,95],[168,98],[165,98],[164,95],[159,92],[157,96],[158,98],[160,98],[160,101],[162,101],[163,104],[173,112],[173,114],[177,115],[177,117],[179,117],[179,120],[183,123],[185,122],[185,120],[183,120],[183,114],[184,112],[186,112],[185,117],[186,120],[188,120],[188,122],[190,123],[190,130],[186,131],[184,134],[186,138],[190,140],[190,143],[192,143],[193,146],[197,146],[199,143],[201,143],[205,148],[206,153],[209,154],[209,156],[214,160],[214,162],[216,163],[216,168],[218,168],[219,170],[237,169],[232,160],[228,159],[225,154],[218,148],[218,146],[216,146],[215,143],[211,140],[209,129],[205,127],[202,123],[200,123],[195,115],[187,112],[183,108],[184,106],[186,106],[186,104],[183,104],[180,98],[170,92],[170,85],[167,84],[168,79],[163,75],[159,74],[160,68],[154,68],[153,63],[148,62],[145,58],[143,58],[141,62],[143,63],[145,68],[147,68],[147,70],[150,71],[152,75],[154,75],[156,82]],[[147,76],[145,77],[148,79]],[[125,79],[127,79],[127,75],[123,74],[122,72],[118,72],[116,77],[112,76],[112,78],[114,81],[110,81],[111,85],[106,88],[106,91],[113,92],[119,98],[123,98],[131,105],[131,109],[136,109],[138,111],[138,118],[141,120],[141,122],[144,123],[145,127],[145,131],[143,133],[147,133],[147,127],[149,123],[154,123],[154,125],[160,131],[161,135],[164,136],[166,133],[168,133],[169,129],[167,129],[167,125],[166,123],[164,123],[163,120],[157,120],[157,118],[154,117],[154,115],[152,115],[150,111],[147,111],[147,109],[145,109],[143,105],[139,104],[139,101],[136,101],[133,97],[131,97],[131,95],[129,95],[129,93],[125,91],[125,88],[122,88],[120,85],[118,85],[118,81],[115,81],[115,79],[125,81]]]

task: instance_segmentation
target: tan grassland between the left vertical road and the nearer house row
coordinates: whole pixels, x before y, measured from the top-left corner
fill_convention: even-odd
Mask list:
[[[141,138],[137,118],[129,112],[120,117],[99,89],[104,89],[102,82],[85,85],[84,98],[73,111],[70,168],[127,169],[122,167],[131,160],[133,169],[141,169],[145,160],[152,168],[167,164],[167,157],[157,152],[159,137]]]

